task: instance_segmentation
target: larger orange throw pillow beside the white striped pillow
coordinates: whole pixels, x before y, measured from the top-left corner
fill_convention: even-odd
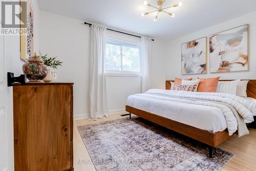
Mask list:
[[[216,93],[218,82],[220,77],[216,78],[199,78],[197,79],[200,80],[197,92],[212,92]]]

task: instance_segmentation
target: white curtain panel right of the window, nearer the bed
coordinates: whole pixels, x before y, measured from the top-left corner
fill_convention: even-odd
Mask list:
[[[152,40],[148,37],[141,37],[141,72],[142,72],[142,93],[151,89],[151,47]]]

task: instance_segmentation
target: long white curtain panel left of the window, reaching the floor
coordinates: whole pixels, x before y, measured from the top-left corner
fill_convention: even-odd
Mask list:
[[[91,28],[90,116],[91,119],[96,119],[108,116],[105,75],[106,28],[96,24]]]

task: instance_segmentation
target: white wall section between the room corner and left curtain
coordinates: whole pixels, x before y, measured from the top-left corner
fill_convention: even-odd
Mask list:
[[[74,115],[89,113],[90,29],[80,20],[40,11],[40,50],[63,62],[58,82],[74,82]]]

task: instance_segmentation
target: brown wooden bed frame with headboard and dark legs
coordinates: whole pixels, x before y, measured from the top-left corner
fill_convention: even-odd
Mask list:
[[[165,89],[170,90],[170,81],[173,80],[166,80],[165,81]],[[220,81],[230,81],[230,80],[220,80]],[[247,96],[256,99],[256,80],[250,80],[247,85]],[[187,137],[193,138],[198,140],[202,143],[205,143],[209,146],[209,157],[212,158],[212,149],[217,147],[219,144],[227,140],[230,136],[228,135],[227,130],[217,133],[211,133],[209,131],[198,129],[194,126],[189,126],[168,118],[164,118],[159,115],[155,115],[152,113],[148,113],[136,108],[133,108],[129,105],[125,106],[125,111],[134,115],[137,115],[143,119],[156,123],[158,125],[164,126],[167,129],[173,130],[180,134],[183,134]],[[255,118],[255,117],[254,117]],[[255,118],[256,119],[256,118]],[[255,123],[255,122],[254,122]]]

